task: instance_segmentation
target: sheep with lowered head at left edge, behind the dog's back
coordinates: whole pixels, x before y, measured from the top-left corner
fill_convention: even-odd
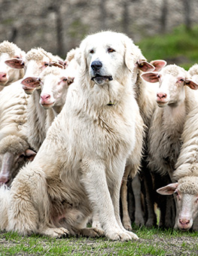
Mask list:
[[[23,132],[28,99],[18,81],[0,93],[0,184],[10,186],[20,167],[35,156]]]

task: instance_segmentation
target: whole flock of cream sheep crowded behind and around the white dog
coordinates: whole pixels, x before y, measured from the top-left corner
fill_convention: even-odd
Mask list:
[[[160,227],[197,230],[198,65],[186,71],[166,65],[165,60],[148,62],[135,44],[131,50],[136,65],[131,86],[145,132],[141,165],[136,166],[139,172],[126,161],[120,187],[123,227],[132,230],[128,211],[132,203],[127,202],[130,193],[136,224],[157,225],[157,206]],[[78,47],[70,50],[64,60],[42,48],[25,53],[12,42],[0,44],[0,193],[5,186],[12,187],[20,169],[34,160],[53,120],[62,111],[80,69],[78,51]],[[136,132],[142,133],[142,127]],[[59,154],[62,152],[54,152],[54,159]],[[127,186],[129,176],[133,192]],[[4,211],[0,210],[0,216],[7,215]],[[7,222],[0,221],[0,229],[7,229]],[[92,226],[101,228],[99,222],[95,212]]]

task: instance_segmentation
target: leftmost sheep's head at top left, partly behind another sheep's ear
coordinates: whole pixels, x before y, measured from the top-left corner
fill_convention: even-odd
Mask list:
[[[6,65],[6,61],[14,58],[18,59],[20,62],[23,62],[25,55],[26,53],[12,42],[3,41],[0,44],[0,90],[14,81],[23,78],[24,75],[24,71],[22,69],[12,69]]]

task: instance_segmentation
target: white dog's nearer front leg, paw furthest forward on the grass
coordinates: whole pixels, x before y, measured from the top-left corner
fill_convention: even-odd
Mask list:
[[[99,212],[99,221],[105,230],[105,235],[112,240],[128,241],[132,239],[132,236],[117,223],[108,190],[105,165],[99,160],[84,160],[82,162],[82,182],[94,212]]]

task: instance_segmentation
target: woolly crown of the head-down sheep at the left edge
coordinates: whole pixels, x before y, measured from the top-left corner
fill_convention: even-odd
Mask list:
[[[29,148],[29,145],[26,140],[18,136],[8,135],[0,141],[0,154],[6,152],[18,154],[26,151],[27,148]]]

